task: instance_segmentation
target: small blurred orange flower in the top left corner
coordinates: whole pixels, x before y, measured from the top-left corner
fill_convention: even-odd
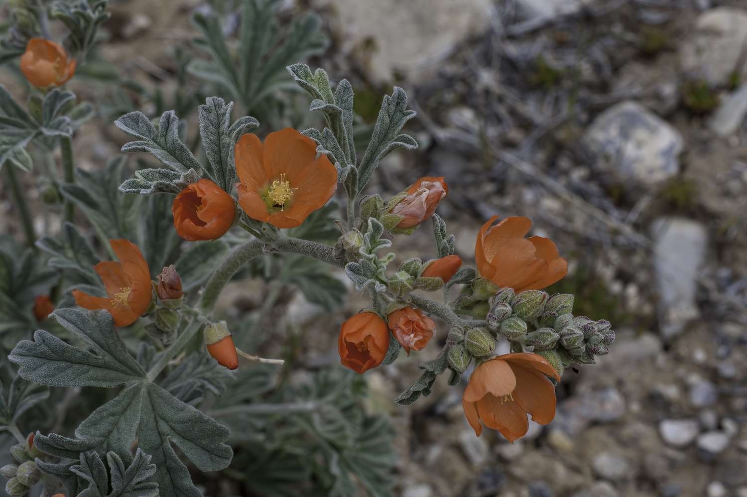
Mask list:
[[[75,72],[75,59],[69,59],[59,43],[31,38],[21,55],[21,70],[35,87],[61,86]]]

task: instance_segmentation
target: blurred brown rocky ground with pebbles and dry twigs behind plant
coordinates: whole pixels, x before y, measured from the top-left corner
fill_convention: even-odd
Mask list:
[[[115,4],[107,56],[168,87],[167,52],[147,47],[188,40],[196,3],[155,3]],[[566,371],[554,422],[513,445],[476,438],[462,389],[445,380],[414,406],[394,406],[428,351],[369,372],[371,409],[391,413],[400,434],[401,495],[746,497],[747,4],[284,6],[307,8],[332,37],[311,65],[353,81],[362,117],[375,119],[392,84],[418,111],[409,132],[421,149],[388,157],[372,188],[394,194],[446,176],[439,212],[465,260],[490,215],[531,217],[571,263],[551,290],[573,292],[575,314],[607,318],[618,333],[598,364]],[[117,143],[92,132],[95,167]],[[421,229],[395,247],[404,259],[431,243]],[[261,300],[261,289],[254,303],[238,293],[223,305]],[[335,322],[362,306],[354,298]],[[276,313],[305,326],[310,364],[335,362],[329,316],[298,299]]]

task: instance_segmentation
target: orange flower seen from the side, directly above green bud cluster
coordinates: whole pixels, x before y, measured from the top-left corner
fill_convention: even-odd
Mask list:
[[[477,235],[474,256],[480,276],[516,293],[540,290],[565,276],[568,262],[558,255],[553,241],[542,236],[524,238],[532,221],[506,217],[491,227],[496,219],[491,217]]]

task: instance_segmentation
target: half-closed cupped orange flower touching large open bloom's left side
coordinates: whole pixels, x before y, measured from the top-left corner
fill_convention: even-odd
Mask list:
[[[233,224],[233,198],[209,179],[200,179],[176,196],[171,206],[174,227],[189,241],[215,240]]]

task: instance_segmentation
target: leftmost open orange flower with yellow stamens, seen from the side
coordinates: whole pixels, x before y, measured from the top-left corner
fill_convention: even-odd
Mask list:
[[[106,309],[115,326],[129,326],[146,312],[152,298],[148,263],[137,245],[127,240],[109,240],[120,262],[99,262],[94,268],[108,297],[93,297],[73,290],[75,303],[86,309]]]

